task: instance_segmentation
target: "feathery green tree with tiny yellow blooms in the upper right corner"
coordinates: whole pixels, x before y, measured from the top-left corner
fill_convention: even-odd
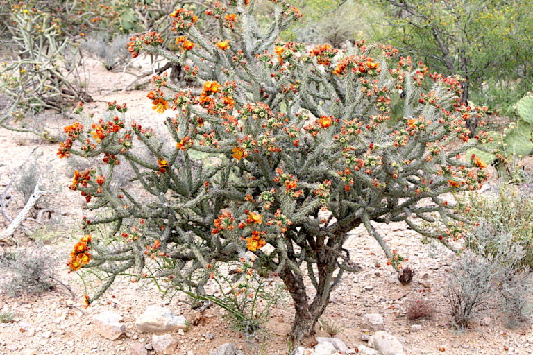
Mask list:
[[[531,88],[533,15],[523,10],[530,1],[384,0],[378,5],[391,26],[382,35],[433,69],[468,78],[481,102],[487,102],[482,93],[490,90],[484,82],[501,83],[507,91],[514,87],[515,98]]]

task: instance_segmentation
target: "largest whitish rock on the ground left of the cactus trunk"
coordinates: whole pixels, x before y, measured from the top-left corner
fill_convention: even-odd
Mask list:
[[[139,333],[147,331],[176,331],[187,328],[187,320],[183,315],[175,315],[169,309],[160,306],[148,306],[135,322]]]

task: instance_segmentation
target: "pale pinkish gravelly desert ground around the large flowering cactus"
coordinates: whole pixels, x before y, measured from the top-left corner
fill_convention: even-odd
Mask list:
[[[161,115],[150,110],[146,91],[115,91],[130,83],[132,76],[106,72],[96,61],[90,61],[88,69],[93,78],[90,94],[98,101],[88,103],[87,111],[101,112],[105,102],[117,100],[128,103],[130,112],[146,112],[143,118],[135,117],[140,123],[158,125],[162,121]],[[60,116],[46,116],[46,126],[51,132],[59,132],[70,122]],[[57,278],[72,289],[75,297],[59,284],[53,291],[40,295],[0,295],[1,312],[15,315],[12,322],[0,323],[2,354],[288,353],[285,336],[293,318],[289,297],[272,307],[267,332],[257,337],[243,336],[230,329],[223,311],[215,306],[198,314],[186,303],[185,296],[162,298],[153,284],[132,284],[128,279],[115,283],[98,302],[84,309],[81,299],[91,291],[90,285],[68,274],[63,263],[72,241],[79,237],[76,226],[84,214],[81,198],[66,188],[75,170],[73,163],[58,159],[53,144],[29,134],[0,130],[0,193],[34,148],[33,156],[42,166],[42,181],[51,192],[47,198],[53,214],[45,225],[28,223],[28,228],[33,230],[29,236],[53,250],[60,260]],[[10,206],[13,211],[20,207],[20,202]],[[2,225],[5,221],[0,220],[1,230],[6,224]],[[362,228],[353,230],[346,248],[362,271],[344,277],[323,315],[323,319],[341,328],[336,335],[341,342],[317,338],[316,345],[308,343],[307,347],[296,349],[295,354],[376,354],[372,347],[382,355],[533,354],[531,323],[507,329],[500,315],[486,313],[468,331],[451,329],[445,295],[446,277],[452,272],[455,256],[438,245],[421,243],[420,237],[403,224],[376,227],[386,236],[391,249],[409,257],[405,266],[416,271],[414,282],[401,285],[394,270],[385,265],[378,243]],[[24,241],[23,245],[29,245],[26,236],[17,234],[17,237]],[[407,305],[416,300],[428,300],[434,306],[431,319],[407,320]],[[185,326],[185,320],[189,324],[196,320],[198,324]],[[329,337],[318,328],[318,337]]]

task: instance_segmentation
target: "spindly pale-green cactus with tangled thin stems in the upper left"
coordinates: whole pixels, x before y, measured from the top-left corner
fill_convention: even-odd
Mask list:
[[[78,46],[62,35],[51,14],[15,4],[8,28],[11,34],[8,44],[15,58],[4,62],[0,69],[0,90],[10,102],[0,125],[24,124],[25,116],[45,109],[62,112],[77,101],[91,100],[83,89],[86,83],[78,67],[81,59]],[[35,132],[31,127],[19,130]]]

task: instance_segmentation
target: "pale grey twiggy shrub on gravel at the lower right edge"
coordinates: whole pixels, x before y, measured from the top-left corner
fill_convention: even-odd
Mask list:
[[[466,328],[489,309],[505,313],[510,327],[526,320],[533,290],[532,274],[523,266],[526,250],[488,223],[467,234],[467,245],[448,284],[454,325]]]

